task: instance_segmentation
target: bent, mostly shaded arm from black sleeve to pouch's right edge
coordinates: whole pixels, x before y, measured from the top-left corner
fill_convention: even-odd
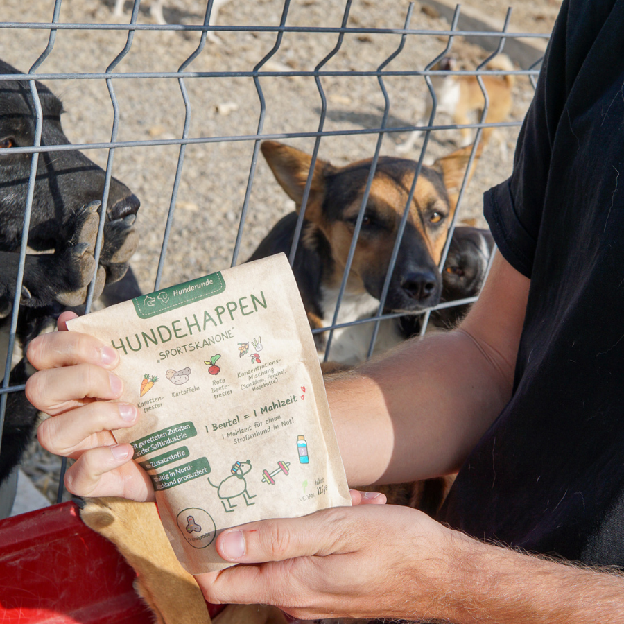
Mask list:
[[[347,480],[399,483],[456,471],[511,397],[529,280],[496,254],[460,328],[328,376]]]

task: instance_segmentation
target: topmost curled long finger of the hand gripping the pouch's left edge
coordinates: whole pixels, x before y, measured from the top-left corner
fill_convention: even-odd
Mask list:
[[[74,364],[113,369],[119,363],[117,349],[78,331],[54,331],[37,336],[28,344],[26,357],[37,370]]]

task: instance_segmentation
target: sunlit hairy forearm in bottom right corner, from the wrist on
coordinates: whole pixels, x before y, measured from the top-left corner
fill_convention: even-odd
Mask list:
[[[461,624],[624,622],[624,577],[456,536],[447,591],[432,608]],[[461,543],[460,543],[461,542]]]

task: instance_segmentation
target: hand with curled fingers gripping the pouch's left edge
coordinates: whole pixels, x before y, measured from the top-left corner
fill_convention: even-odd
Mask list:
[[[114,403],[123,382],[114,373],[116,349],[84,333],[67,331],[76,318],[64,312],[58,332],[37,336],[28,361],[37,369],[26,383],[26,397],[49,414],[37,429],[44,449],[76,462],[65,473],[65,487],[78,496],[121,496],[153,501],[145,471],[132,461],[130,444],[117,444],[111,431],[137,422],[137,407]]]

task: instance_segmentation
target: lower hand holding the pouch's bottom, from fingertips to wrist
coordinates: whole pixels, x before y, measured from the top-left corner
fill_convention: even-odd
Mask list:
[[[454,557],[470,541],[412,508],[333,508],[223,531],[219,555],[245,565],[196,579],[210,603],[275,605],[295,618],[444,617]]]

